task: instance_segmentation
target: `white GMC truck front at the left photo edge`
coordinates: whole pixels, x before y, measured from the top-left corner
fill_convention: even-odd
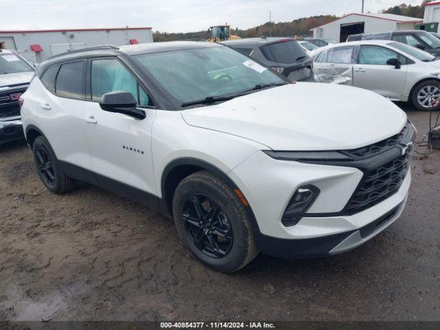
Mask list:
[[[19,98],[34,76],[34,67],[19,54],[0,50],[0,145],[23,139]]]

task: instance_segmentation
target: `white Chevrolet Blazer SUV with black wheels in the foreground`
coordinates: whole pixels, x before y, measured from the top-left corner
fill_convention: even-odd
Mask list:
[[[415,129],[370,91],[289,83],[215,43],[72,52],[23,94],[49,190],[86,181],[173,217],[197,259],[239,270],[259,251],[351,250],[393,223]]]

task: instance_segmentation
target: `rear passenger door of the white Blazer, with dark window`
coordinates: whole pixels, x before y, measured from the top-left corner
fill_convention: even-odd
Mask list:
[[[39,129],[56,157],[66,166],[91,170],[91,156],[83,130],[85,63],[73,61],[49,67],[41,78],[48,90],[39,100]]]

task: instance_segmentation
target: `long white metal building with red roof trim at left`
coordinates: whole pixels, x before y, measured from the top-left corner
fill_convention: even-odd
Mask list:
[[[0,31],[0,47],[17,50],[31,63],[84,47],[152,42],[151,28]]]

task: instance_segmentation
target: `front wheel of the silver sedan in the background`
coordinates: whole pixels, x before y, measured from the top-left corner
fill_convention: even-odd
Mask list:
[[[423,96],[426,96],[426,98],[423,98]],[[412,91],[411,100],[412,104],[421,111],[438,111],[440,109],[440,82],[437,80],[427,80],[419,83],[414,91]],[[432,103],[437,104],[432,107]]]

